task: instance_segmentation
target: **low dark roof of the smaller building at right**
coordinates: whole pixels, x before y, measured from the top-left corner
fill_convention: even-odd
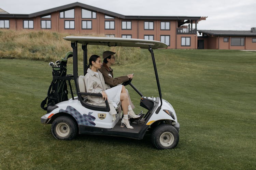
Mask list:
[[[256,32],[251,31],[232,31],[232,30],[198,30],[199,33],[214,36],[256,36]]]

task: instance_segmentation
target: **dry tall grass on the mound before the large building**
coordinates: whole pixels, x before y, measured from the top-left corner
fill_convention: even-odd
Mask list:
[[[70,34],[56,33],[51,31],[0,31],[0,58],[22,58],[29,60],[56,61],[65,56],[66,52],[72,51],[70,42],[62,37]],[[100,35],[74,35],[74,36],[100,36]],[[135,62],[137,56],[141,56],[139,48],[88,46],[88,56],[111,50],[116,52],[116,64]],[[80,61],[83,50],[78,48]]]

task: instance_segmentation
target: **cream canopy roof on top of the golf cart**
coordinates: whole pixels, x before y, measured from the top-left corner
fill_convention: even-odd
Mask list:
[[[167,48],[165,43],[155,40],[134,39],[134,38],[116,38],[116,37],[83,37],[83,36],[66,36],[65,40],[85,45],[101,45],[101,46],[122,46],[122,47],[140,47],[152,49]]]

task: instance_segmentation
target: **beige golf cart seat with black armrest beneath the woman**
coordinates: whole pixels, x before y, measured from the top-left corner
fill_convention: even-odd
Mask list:
[[[101,94],[96,94],[96,93],[87,93],[86,92],[86,87],[85,87],[85,82],[84,82],[84,76],[83,75],[80,75],[77,78],[76,81],[77,81],[77,86],[78,86],[77,96],[78,96],[78,99],[80,100],[81,104],[84,107],[89,108],[91,110],[95,110],[95,111],[103,111],[103,112],[109,112],[110,111],[108,100],[105,101],[106,106],[97,106],[97,105],[92,105],[92,104],[87,103],[87,101],[88,101],[87,96],[102,97],[102,95]]]

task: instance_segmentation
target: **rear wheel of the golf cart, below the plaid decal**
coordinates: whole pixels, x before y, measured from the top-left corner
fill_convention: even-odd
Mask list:
[[[68,116],[57,117],[52,123],[52,134],[56,139],[72,140],[76,137],[77,132],[75,121]]]

